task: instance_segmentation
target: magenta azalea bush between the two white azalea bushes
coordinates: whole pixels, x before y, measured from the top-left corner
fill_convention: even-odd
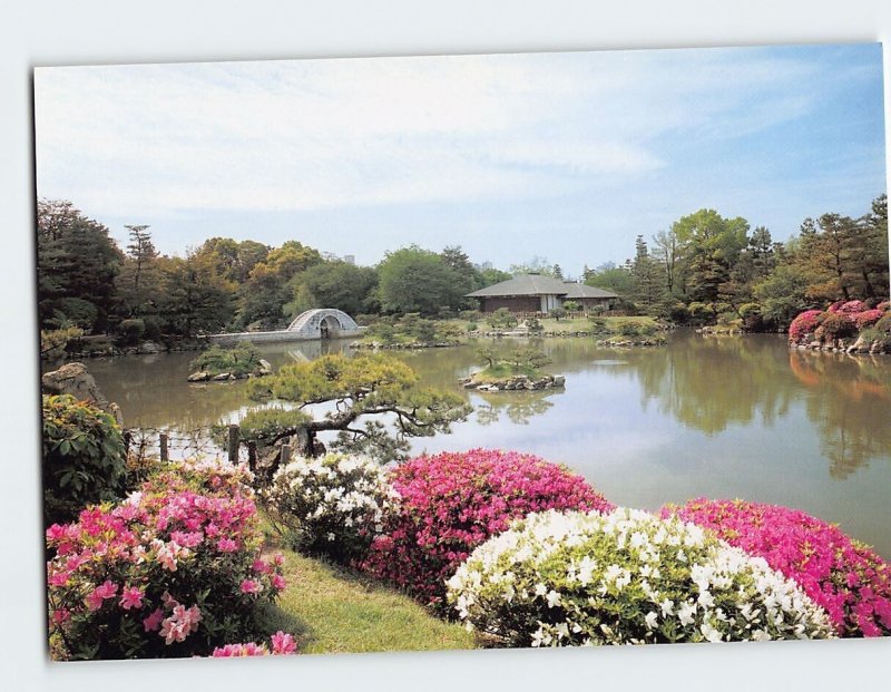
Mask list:
[[[401,500],[363,567],[438,605],[444,579],[512,519],[551,508],[613,509],[580,476],[516,451],[421,456],[396,467],[391,479]]]

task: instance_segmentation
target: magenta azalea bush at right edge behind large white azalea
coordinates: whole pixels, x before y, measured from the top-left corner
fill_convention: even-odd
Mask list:
[[[891,565],[836,526],[797,509],[742,500],[667,506],[794,579],[842,636],[891,634]]]

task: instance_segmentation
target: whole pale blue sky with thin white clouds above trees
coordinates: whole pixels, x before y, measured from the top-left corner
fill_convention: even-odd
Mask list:
[[[38,197],[179,255],[578,276],[699,208],[786,240],[887,189],[879,43],[37,68],[35,118]]]

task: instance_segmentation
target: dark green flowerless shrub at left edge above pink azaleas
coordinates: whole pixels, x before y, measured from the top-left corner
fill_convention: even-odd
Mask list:
[[[43,519],[70,522],[91,503],[124,496],[124,437],[115,419],[70,394],[43,396]]]

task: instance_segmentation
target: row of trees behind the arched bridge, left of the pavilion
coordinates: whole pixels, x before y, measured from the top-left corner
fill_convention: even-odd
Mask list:
[[[212,237],[178,257],[157,251],[148,226],[126,228],[121,248],[71,202],[38,202],[41,330],[136,340],[281,329],[319,306],[440,315],[476,306],[467,293],[511,276],[478,269],[459,246],[437,253],[410,245],[376,266],[356,266],[295,240],[273,247]]]

